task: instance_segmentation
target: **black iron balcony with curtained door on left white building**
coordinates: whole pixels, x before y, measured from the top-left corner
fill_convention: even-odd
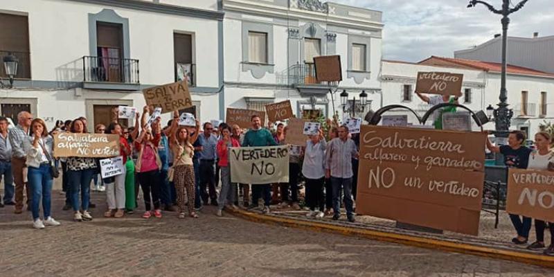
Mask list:
[[[84,89],[138,90],[139,60],[82,57]]]

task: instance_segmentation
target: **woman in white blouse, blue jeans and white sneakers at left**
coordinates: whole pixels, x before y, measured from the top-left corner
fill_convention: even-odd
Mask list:
[[[44,120],[35,118],[30,123],[31,141],[26,146],[27,152],[27,179],[30,184],[33,197],[31,198],[31,211],[33,213],[33,227],[44,229],[44,226],[57,226],[57,222],[51,217],[51,195],[53,178],[51,175],[53,139],[48,135]],[[42,199],[44,221],[40,219],[39,202]]]

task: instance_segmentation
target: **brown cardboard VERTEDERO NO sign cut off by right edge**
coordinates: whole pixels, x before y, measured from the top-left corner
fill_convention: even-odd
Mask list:
[[[506,211],[554,222],[554,172],[510,168]]]

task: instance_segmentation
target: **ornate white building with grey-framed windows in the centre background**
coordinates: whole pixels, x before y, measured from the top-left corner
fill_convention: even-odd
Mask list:
[[[382,12],[318,0],[222,3],[226,107],[264,111],[269,102],[290,100],[296,116],[321,109],[342,117],[343,90],[350,101],[366,91],[368,102],[380,102]],[[341,82],[316,80],[320,55],[341,56]]]

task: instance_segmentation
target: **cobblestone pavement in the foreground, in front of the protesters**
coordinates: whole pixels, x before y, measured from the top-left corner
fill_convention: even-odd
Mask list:
[[[62,226],[31,228],[30,213],[0,208],[0,276],[554,276],[554,270],[400,244],[176,213],[104,219],[93,194],[92,222],[71,222],[54,192]]]

